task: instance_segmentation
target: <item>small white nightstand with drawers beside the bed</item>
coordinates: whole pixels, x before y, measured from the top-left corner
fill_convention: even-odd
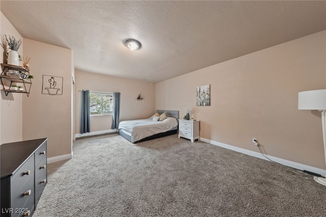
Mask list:
[[[200,140],[199,137],[199,123],[200,121],[179,119],[179,135],[192,141]]]

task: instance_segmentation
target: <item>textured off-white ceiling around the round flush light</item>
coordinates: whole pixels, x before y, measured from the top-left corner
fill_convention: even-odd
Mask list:
[[[326,1],[1,1],[76,69],[159,82],[326,29]],[[6,34],[6,33],[3,33]],[[131,51],[123,40],[142,43]]]

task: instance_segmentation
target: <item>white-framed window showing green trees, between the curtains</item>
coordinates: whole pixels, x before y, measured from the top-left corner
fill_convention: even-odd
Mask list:
[[[111,93],[90,93],[91,115],[108,115],[113,112],[113,94]]]

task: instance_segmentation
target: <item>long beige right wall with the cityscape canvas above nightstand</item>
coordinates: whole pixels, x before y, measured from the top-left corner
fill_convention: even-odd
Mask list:
[[[326,31],[156,83],[156,108],[195,109],[202,138],[325,169],[321,114],[297,110],[300,91],[326,88]],[[218,52],[218,51],[216,51]],[[211,106],[196,87],[211,85]]]

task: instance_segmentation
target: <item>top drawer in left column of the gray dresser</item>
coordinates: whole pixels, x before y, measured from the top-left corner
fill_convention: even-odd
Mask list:
[[[13,201],[25,183],[34,183],[34,154],[11,177],[10,181],[11,201]]]

